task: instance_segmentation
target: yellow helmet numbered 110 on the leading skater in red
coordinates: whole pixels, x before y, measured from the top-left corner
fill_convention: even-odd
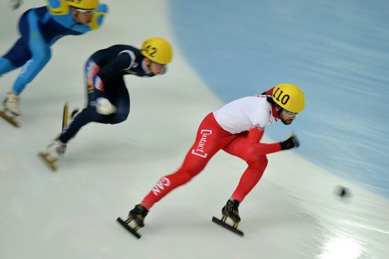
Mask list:
[[[281,108],[292,113],[300,113],[306,105],[306,98],[295,84],[279,84],[273,88],[272,98]]]

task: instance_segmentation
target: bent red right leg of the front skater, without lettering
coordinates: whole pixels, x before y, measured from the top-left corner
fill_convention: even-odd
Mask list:
[[[238,187],[231,196],[231,200],[242,202],[245,196],[248,195],[252,188],[260,181],[267,166],[267,157],[266,155],[257,155],[250,152],[248,132],[240,133],[238,137],[223,150],[228,154],[240,157],[248,163],[248,168],[246,168],[240,178]]]

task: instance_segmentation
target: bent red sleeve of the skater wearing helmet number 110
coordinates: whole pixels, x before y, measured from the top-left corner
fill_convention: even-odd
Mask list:
[[[248,132],[248,148],[251,154],[262,156],[281,151],[281,144],[279,142],[272,144],[260,142],[264,132],[265,130],[260,129],[259,127],[252,127]]]

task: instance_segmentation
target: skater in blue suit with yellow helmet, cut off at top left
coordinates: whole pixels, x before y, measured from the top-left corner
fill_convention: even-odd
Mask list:
[[[0,57],[0,76],[22,67],[7,93],[4,108],[21,115],[20,94],[51,58],[50,47],[66,35],[81,35],[96,30],[103,23],[108,7],[99,0],[48,0],[47,6],[25,11],[19,20],[21,38]]]

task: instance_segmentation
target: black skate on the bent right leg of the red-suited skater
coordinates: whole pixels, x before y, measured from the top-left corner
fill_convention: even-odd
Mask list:
[[[238,224],[240,221],[239,217],[239,202],[237,200],[228,200],[226,205],[221,209],[221,219],[217,219],[216,217],[212,217],[212,221],[224,228],[233,231],[234,233],[243,236],[243,231],[238,229]],[[226,220],[230,218],[233,221],[233,225],[226,223]]]

